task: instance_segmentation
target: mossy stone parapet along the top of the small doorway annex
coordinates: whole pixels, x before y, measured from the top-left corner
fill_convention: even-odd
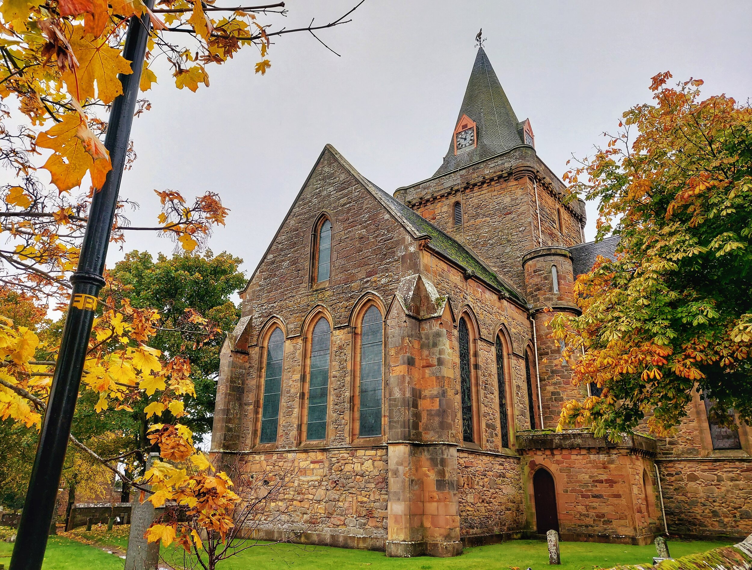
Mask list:
[[[637,453],[655,455],[657,444],[653,438],[644,435],[622,435],[621,441],[608,441],[608,438],[597,438],[587,429],[567,429],[563,432],[552,432],[537,429],[517,432],[517,449],[587,449],[587,448],[626,449]]]

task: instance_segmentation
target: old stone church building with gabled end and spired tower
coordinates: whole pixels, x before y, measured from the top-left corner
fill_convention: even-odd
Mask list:
[[[453,556],[556,529],[646,544],[752,532],[752,437],[553,431],[572,385],[544,308],[617,242],[535,152],[483,48],[438,170],[393,196],[326,145],[241,293],[212,451],[287,477],[262,538]],[[594,388],[594,387],[593,387]]]

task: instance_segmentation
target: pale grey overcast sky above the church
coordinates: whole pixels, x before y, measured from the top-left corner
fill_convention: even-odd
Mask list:
[[[325,23],[355,4],[288,0],[286,19],[261,21]],[[129,214],[134,225],[155,222],[153,189],[216,191],[231,214],[210,247],[242,257],[250,276],[324,144],[390,193],[430,177],[450,142],[481,26],[517,117],[529,117],[538,155],[559,175],[572,153],[589,153],[623,111],[650,99],[650,77],[660,71],[704,79],[707,96],[752,96],[746,0],[366,0],[352,18],[320,32],[341,57],[311,35],[283,36],[263,77],[253,74],[253,47],[210,65],[211,87],[196,93],[175,89],[157,66],[152,110],[132,132],[138,160],[120,191],[141,204]],[[590,240],[595,205],[588,217]],[[165,238],[127,237],[124,251],[172,250]],[[108,263],[122,255],[114,245]]]

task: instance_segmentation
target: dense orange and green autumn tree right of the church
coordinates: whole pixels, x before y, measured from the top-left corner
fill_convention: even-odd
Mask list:
[[[551,323],[575,382],[603,389],[568,402],[559,427],[617,437],[647,418],[665,435],[696,392],[728,425],[729,411],[752,419],[752,110],[670,77],[565,176],[599,200],[599,236],[621,241],[578,278],[581,316]]]

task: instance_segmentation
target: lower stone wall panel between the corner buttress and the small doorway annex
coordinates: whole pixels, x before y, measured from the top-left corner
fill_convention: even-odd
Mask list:
[[[520,458],[472,451],[457,453],[459,532],[511,535],[525,525]]]

